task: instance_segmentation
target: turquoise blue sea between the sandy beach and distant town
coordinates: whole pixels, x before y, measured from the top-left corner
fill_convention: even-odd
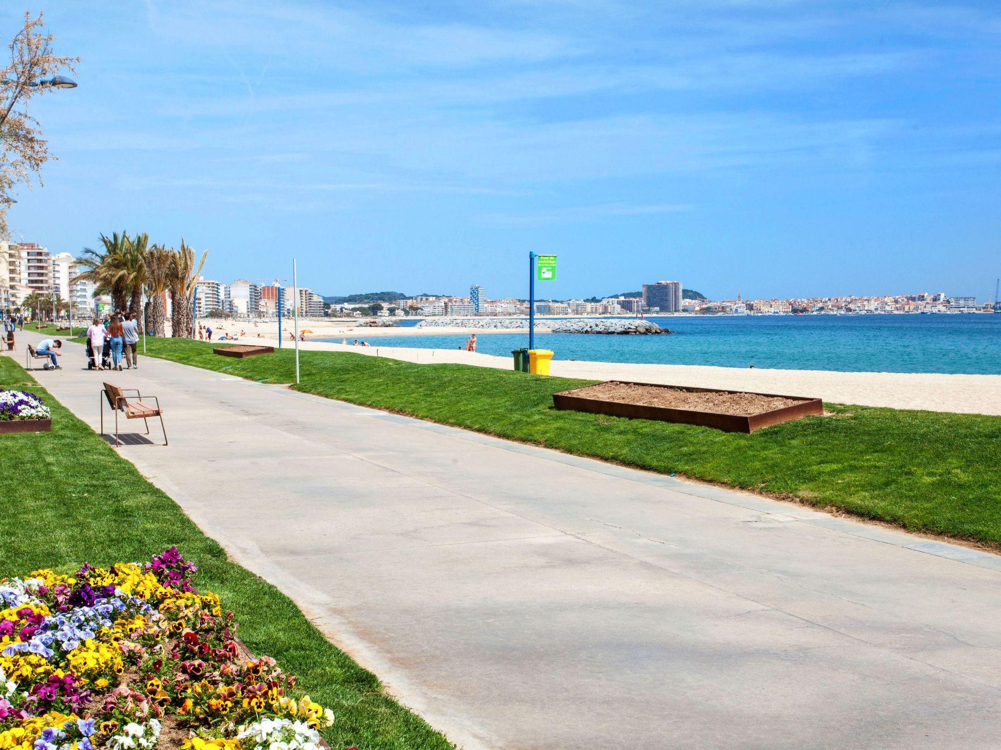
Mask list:
[[[650,317],[673,336],[538,334],[556,359],[774,367],[843,372],[1001,374],[1001,315]],[[411,321],[404,321],[411,323]],[[509,356],[528,333],[477,336],[477,351]],[[340,339],[320,339],[337,341]],[[372,337],[373,346],[455,349],[462,335]]]

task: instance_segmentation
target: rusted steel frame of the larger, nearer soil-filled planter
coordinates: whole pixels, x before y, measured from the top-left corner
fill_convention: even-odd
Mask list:
[[[553,394],[553,404],[557,409],[569,411],[586,411],[592,414],[606,414],[611,417],[629,417],[631,419],[654,419],[661,422],[676,422],[693,424],[700,427],[715,427],[725,432],[751,433],[763,427],[771,427],[781,422],[815,414],[824,413],[824,403],[819,398],[804,398],[802,396],[782,396],[776,393],[758,393],[756,391],[733,391],[721,388],[693,388],[680,385],[661,385],[657,383],[636,383],[628,380],[611,380],[610,383],[626,385],[642,385],[651,388],[671,388],[673,390],[693,393],[751,393],[755,396],[794,399],[799,403],[781,409],[764,411],[752,415],[720,414],[709,411],[694,411],[690,409],[673,409],[666,406],[647,406],[645,404],[627,404],[621,401],[588,398],[575,395],[576,391],[564,391]],[[588,386],[585,386],[588,387]]]

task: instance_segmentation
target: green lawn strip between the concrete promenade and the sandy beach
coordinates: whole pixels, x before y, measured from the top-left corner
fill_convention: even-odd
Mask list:
[[[294,379],[292,351],[232,359],[186,339],[149,353],[252,380]],[[556,411],[591,381],[301,352],[300,390],[658,472],[759,490],[1001,549],[1001,417],[827,404],[753,435]]]

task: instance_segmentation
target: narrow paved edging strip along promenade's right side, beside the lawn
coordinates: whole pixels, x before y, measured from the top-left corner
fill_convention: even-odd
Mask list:
[[[76,344],[76,346],[82,346],[82,345]],[[179,370],[184,370],[189,367],[192,367],[192,365],[181,364],[179,362],[174,362],[169,359],[161,359],[158,357],[152,357],[152,358],[156,359],[158,362],[165,362],[168,365],[173,366],[174,368]],[[194,369],[201,370],[203,368],[194,368]],[[443,425],[437,422],[422,420],[417,417],[386,412],[377,409],[375,407],[361,406],[359,404],[352,404],[350,402],[327,398],[325,396],[319,396],[313,393],[305,393],[303,391],[297,391],[293,389],[291,387],[291,384],[257,383],[252,380],[247,380],[245,378],[240,378],[237,376],[230,376],[230,375],[223,376],[219,380],[221,382],[247,383],[253,387],[265,388],[274,391],[276,393],[284,393],[286,395],[292,396],[293,398],[301,398],[316,403],[333,404],[337,408],[343,408],[348,411],[352,411],[354,413],[368,414],[374,418],[393,421],[403,426],[416,427],[417,429],[427,430],[442,435],[458,437],[460,439],[469,440],[472,442],[479,443],[481,445],[498,447],[504,450],[512,451],[515,453],[522,453],[523,455],[533,456],[536,458],[540,458],[542,460],[554,461],[568,466],[584,469],[586,471],[593,471],[598,474],[605,474],[606,476],[616,477],[620,479],[627,479],[629,481],[638,482],[640,484],[660,487],[662,489],[679,492],[681,494],[698,497],[704,500],[721,502],[727,505],[746,508],[748,510],[754,510],[761,513],[767,513],[767,514],[776,513],[774,504],[782,502],[780,500],[775,500],[770,498],[756,500],[755,499],[756,496],[742,494],[741,491],[737,489],[725,489],[715,486],[707,486],[703,488],[701,485],[698,485],[696,483],[689,483],[684,480],[675,479],[673,477],[658,475],[653,472],[648,472],[639,467],[622,467],[616,464],[606,463],[595,458],[574,456],[572,454],[563,453],[553,448],[544,448],[542,446],[530,445],[526,443],[518,443],[506,440],[505,438],[496,437],[493,435],[485,435],[483,433],[474,432],[472,430],[467,430],[452,425]],[[350,455],[355,455],[355,454],[350,454]],[[368,460],[361,456],[358,456],[358,458],[359,460],[363,461]],[[409,476],[409,475],[404,473],[404,476]],[[416,477],[411,477],[411,478],[416,478]],[[476,498],[469,498],[469,499],[476,500]],[[989,552],[982,552],[980,550],[974,550],[969,547],[963,547],[961,545],[950,544],[948,542],[925,540],[920,537],[914,539],[913,541],[908,541],[909,535],[906,530],[901,530],[901,531],[887,530],[887,533],[890,535],[900,535],[902,537],[902,539],[900,540],[876,538],[877,536],[876,534],[873,534],[872,532],[866,533],[864,531],[864,529],[870,527],[868,527],[867,524],[865,524],[861,520],[841,519],[836,516],[826,514],[821,509],[817,509],[814,512],[818,513],[819,515],[825,516],[825,518],[814,518],[814,519],[805,518],[805,519],[798,519],[798,521],[808,523],[810,525],[817,526],[819,528],[832,531],[835,533],[844,533],[871,542],[889,544],[892,546],[900,547],[902,549],[908,549],[913,552],[919,552],[922,554],[940,557],[946,560],[950,560],[952,562],[962,563],[965,565],[974,565],[979,568],[1001,572],[1001,556],[999,555],[995,555]],[[526,519],[526,520],[531,520],[531,519]]]

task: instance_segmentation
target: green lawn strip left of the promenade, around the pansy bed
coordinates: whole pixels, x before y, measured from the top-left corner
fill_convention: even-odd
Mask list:
[[[69,571],[84,561],[141,561],[176,544],[197,562],[197,585],[236,613],[250,649],[276,658],[333,710],[336,721],[323,731],[333,748],[452,747],[386,696],[375,676],[327,642],[286,596],[228,561],[173,500],[10,357],[0,357],[0,389],[37,393],[53,424],[51,433],[0,435],[0,578],[37,568]]]

